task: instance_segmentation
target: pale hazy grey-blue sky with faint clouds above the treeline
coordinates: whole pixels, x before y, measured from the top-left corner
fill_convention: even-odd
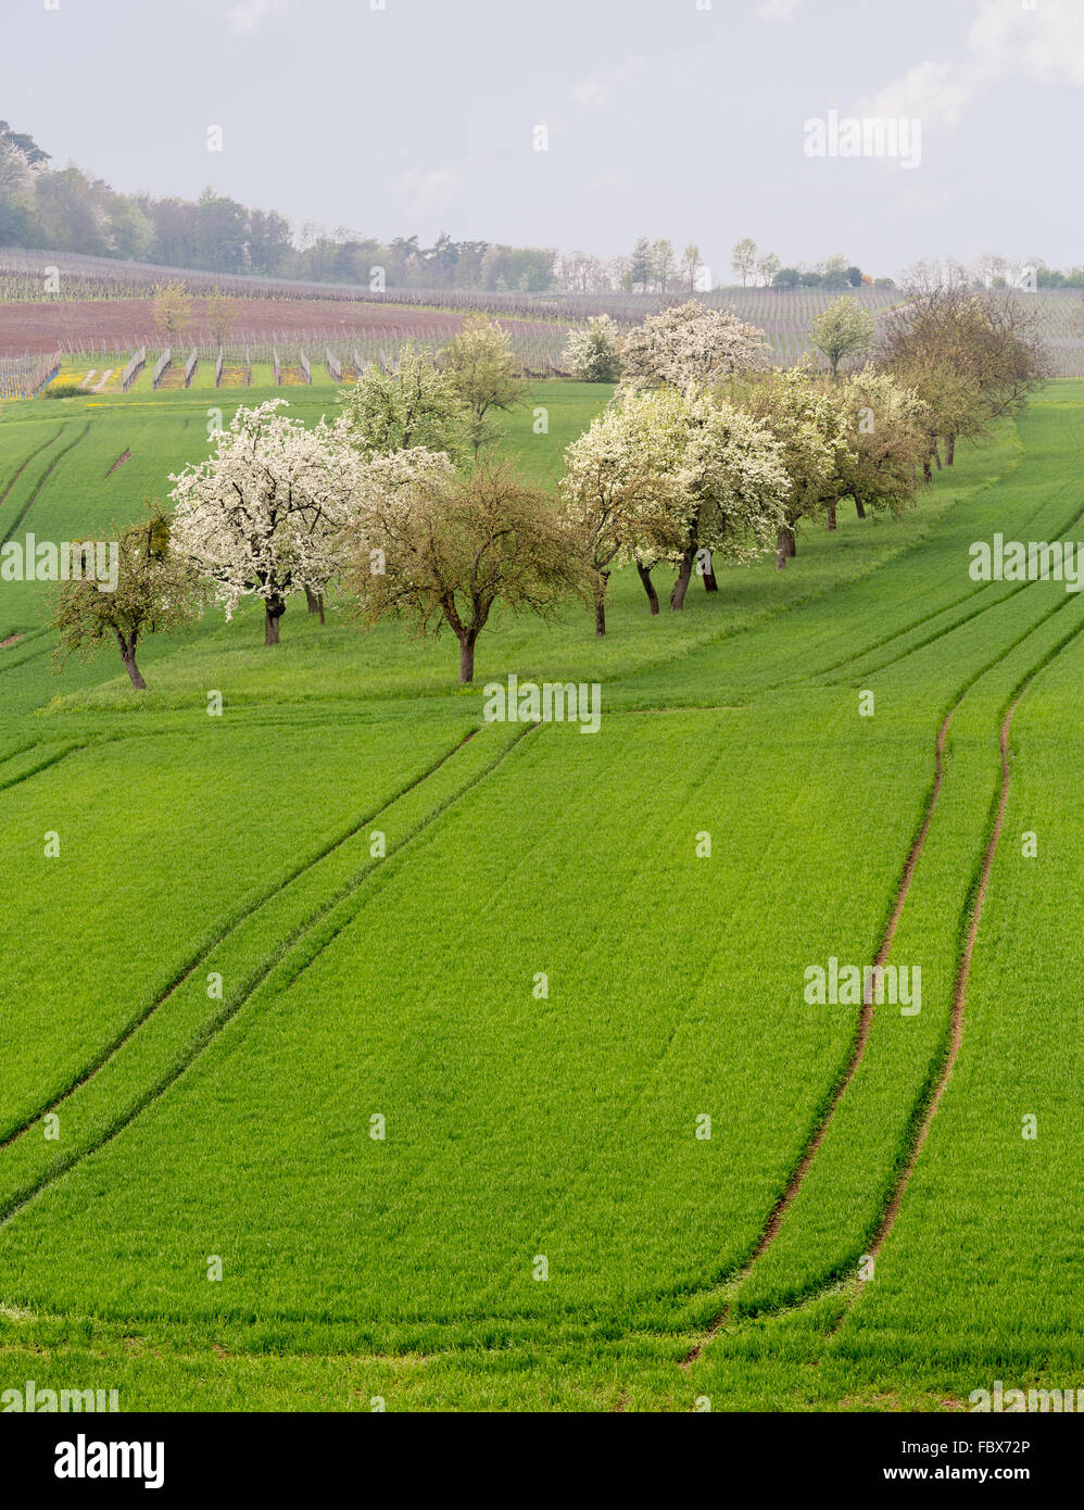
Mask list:
[[[121,190],[423,245],[1084,261],[1084,0],[379,5],[0,0],[0,116]],[[808,156],[832,110],[918,119],[918,165]]]

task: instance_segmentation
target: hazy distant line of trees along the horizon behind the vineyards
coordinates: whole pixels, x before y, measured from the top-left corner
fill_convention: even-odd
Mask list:
[[[211,187],[195,201],[122,195],[72,165],[50,165],[50,154],[32,136],[0,121],[0,245],[374,288],[667,294],[722,285],[694,242],[678,252],[666,237],[642,236],[630,255],[608,258],[559,254],[550,246],[457,242],[447,231],[432,246],[421,246],[417,236],[383,242],[347,226],[305,223],[294,230],[278,210],[249,208]],[[743,287],[836,293],[895,287],[891,278],[873,278],[839,255],[815,266],[784,266],[752,237],[737,242],[729,270]],[[984,288],[1022,287],[1025,276],[1037,288],[1084,287],[1084,267],[1061,272],[1042,258],[1022,264],[987,255],[966,276]]]

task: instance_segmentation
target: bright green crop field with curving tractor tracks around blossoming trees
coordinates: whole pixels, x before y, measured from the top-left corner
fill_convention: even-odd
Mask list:
[[[503,448],[551,485],[608,391],[534,385]],[[2,406],[0,541],[103,538],[205,453],[208,405],[267,397],[335,406]],[[583,607],[498,619],[467,689],[454,642],[294,598],[276,649],[255,610],[146,642],[137,698],[116,657],[54,672],[48,589],[0,583],[0,1389],[1079,1385],[1084,604],[978,584],[968,547],[1084,538],[1082,445],[1084,384],[1052,384],[904,521],[845,506],[657,619],[621,572],[602,642]],[[599,683],[599,732],[483,722],[513,672]],[[879,951],[919,1012],[806,1003],[809,966]]]

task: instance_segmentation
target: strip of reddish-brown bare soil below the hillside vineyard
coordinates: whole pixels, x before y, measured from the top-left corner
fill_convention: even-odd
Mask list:
[[[408,305],[347,304],[340,299],[237,299],[231,344],[243,343],[246,335],[257,340],[270,332],[288,335],[291,331],[340,331],[341,340],[347,340],[352,332],[374,335],[408,328],[454,335],[462,320],[462,314]],[[186,329],[184,340],[210,340],[205,322],[207,300],[193,297],[192,325]],[[501,323],[525,328],[536,325],[531,320]],[[50,299],[42,304],[0,307],[0,356],[53,352],[57,344],[68,341],[82,341],[85,346],[116,341],[118,350],[127,350],[160,344],[160,340],[151,299]]]

